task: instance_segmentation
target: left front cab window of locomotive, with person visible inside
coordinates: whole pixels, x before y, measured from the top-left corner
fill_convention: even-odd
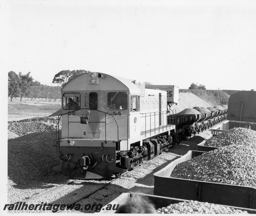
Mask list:
[[[79,93],[64,93],[63,94],[63,109],[76,110],[80,109],[80,94]]]

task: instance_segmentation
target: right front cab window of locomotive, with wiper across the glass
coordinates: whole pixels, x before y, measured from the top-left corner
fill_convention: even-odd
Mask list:
[[[119,92],[119,91],[108,93],[107,108],[108,109],[127,109],[128,94],[125,92]]]

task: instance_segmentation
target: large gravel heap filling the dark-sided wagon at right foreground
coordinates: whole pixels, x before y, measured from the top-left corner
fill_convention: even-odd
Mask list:
[[[171,177],[256,187],[256,149],[228,145],[177,164]]]

